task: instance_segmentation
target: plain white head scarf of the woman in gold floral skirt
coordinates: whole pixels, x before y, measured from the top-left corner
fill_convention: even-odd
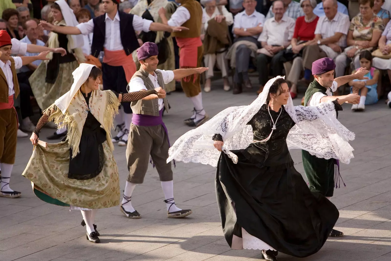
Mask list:
[[[71,89],[54,102],[54,104],[56,104],[56,106],[61,110],[62,113],[66,112],[73,97],[83,85],[83,83],[87,81],[88,76],[90,76],[91,69],[94,66],[95,65],[88,63],[81,63],[79,67],[77,67],[76,70],[72,72],[72,75],[74,76],[74,83],[72,84]]]

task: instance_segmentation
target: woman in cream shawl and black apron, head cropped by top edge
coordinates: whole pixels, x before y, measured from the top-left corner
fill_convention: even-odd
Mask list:
[[[136,14],[144,19],[152,20],[161,23],[158,11],[161,7],[166,9],[167,17],[170,18],[178,7],[175,2],[167,0],[140,0],[135,7],[130,11],[131,14]],[[142,43],[152,42],[158,45],[159,49],[159,65],[160,70],[175,70],[174,44],[170,32],[141,32],[138,36]],[[142,44],[141,43],[141,44]],[[133,60],[136,63],[137,70],[140,68],[140,63],[137,59],[136,51],[133,52]],[[175,90],[175,81],[166,85],[167,92]]]

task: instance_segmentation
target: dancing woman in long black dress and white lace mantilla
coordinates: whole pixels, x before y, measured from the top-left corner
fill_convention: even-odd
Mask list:
[[[310,192],[288,149],[349,163],[354,133],[331,117],[340,103],[293,106],[287,82],[276,77],[250,105],[227,108],[185,133],[167,160],[217,166],[217,203],[231,248],[260,249],[273,261],[278,252],[306,257],[323,246],[339,212]]]

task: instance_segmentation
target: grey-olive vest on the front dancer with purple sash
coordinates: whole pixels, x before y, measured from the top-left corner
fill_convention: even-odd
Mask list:
[[[158,83],[159,83],[160,87],[163,88],[163,90],[166,90],[166,88],[164,86],[163,76],[161,75],[161,73],[158,70],[156,70],[155,74],[156,74],[156,76],[158,76]],[[134,77],[141,78],[144,82],[145,88],[147,88],[147,90],[153,90],[155,87],[154,87],[151,79],[149,79],[148,75],[149,75],[149,73],[146,70],[144,70],[143,67],[140,67],[140,70],[138,70],[137,72],[135,72],[135,74],[133,74],[132,79]],[[166,112],[169,112],[169,103],[168,103],[166,97],[163,99],[163,103],[164,103]],[[133,113],[145,114],[145,115],[151,115],[151,116],[159,116],[158,99],[149,100],[149,101],[146,101],[143,99],[138,100],[138,101],[132,101],[130,103],[130,106],[132,108]]]

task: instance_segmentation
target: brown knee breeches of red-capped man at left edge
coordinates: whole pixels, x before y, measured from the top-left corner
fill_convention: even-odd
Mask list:
[[[0,110],[0,162],[14,164],[18,120],[14,108]]]

